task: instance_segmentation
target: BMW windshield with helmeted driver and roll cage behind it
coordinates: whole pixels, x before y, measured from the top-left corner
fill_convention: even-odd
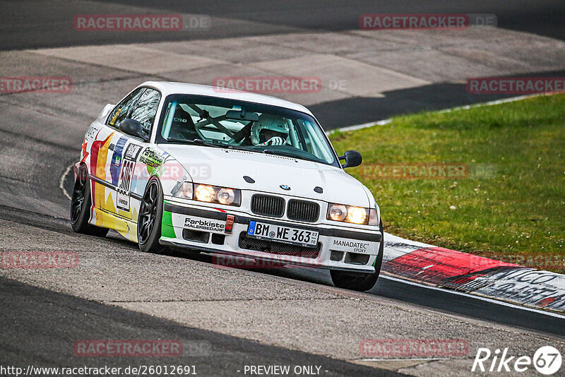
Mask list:
[[[308,114],[253,102],[169,95],[157,143],[237,148],[339,166],[321,127]]]

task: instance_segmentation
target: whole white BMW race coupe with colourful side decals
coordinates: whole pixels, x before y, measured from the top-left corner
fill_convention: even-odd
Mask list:
[[[361,160],[338,157],[299,104],[147,82],[86,131],[71,225],[115,229],[142,251],[327,268],[337,287],[365,291],[379,276],[383,228],[371,192],[343,170]]]

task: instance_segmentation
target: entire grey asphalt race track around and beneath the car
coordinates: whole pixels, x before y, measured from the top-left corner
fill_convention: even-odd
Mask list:
[[[159,338],[182,341],[184,354],[173,364],[196,365],[200,376],[282,364],[321,366],[324,376],[463,376],[478,347],[530,356],[543,345],[564,348],[565,318],[542,311],[386,276],[371,292],[349,292],[333,287],[323,270],[218,268],[207,255],[141,253],[114,232],[105,239],[78,235],[65,195],[88,124],[144,80],[209,84],[215,76],[290,75],[314,55],[316,64],[297,74],[320,72],[324,83],[345,80],[345,88],[281,97],[306,104],[328,129],[496,100],[503,96],[465,92],[465,78],[563,76],[563,1],[176,4],[1,4],[0,76],[69,76],[77,85],[68,94],[0,95],[0,251],[73,251],[80,263],[68,270],[0,269],[0,366],[169,364],[73,355],[77,340]],[[177,34],[72,28],[76,14],[150,11],[206,14],[217,27]],[[360,14],[387,12],[493,13],[500,28],[357,30]],[[364,339],[399,337],[462,339],[469,352],[408,361],[359,352]]]

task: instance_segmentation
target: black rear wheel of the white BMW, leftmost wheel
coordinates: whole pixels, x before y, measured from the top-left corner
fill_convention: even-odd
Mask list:
[[[81,165],[76,174],[73,196],[71,197],[71,227],[76,233],[105,237],[108,234],[108,228],[95,227],[88,224],[91,207],[92,199],[90,198],[88,170],[84,165]]]

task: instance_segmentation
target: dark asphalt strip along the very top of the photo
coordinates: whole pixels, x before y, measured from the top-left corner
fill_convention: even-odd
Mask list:
[[[0,49],[66,47],[78,44],[108,44],[157,42],[164,40],[200,40],[244,37],[302,31],[342,31],[359,27],[359,15],[364,13],[493,13],[500,28],[531,32],[537,35],[565,39],[563,19],[565,4],[559,0],[449,1],[432,0],[355,0],[355,1],[176,1],[176,0],[107,0],[107,1],[3,1],[0,16]],[[156,13],[206,14],[222,20],[218,28],[206,33],[159,33],[139,35],[116,33],[77,33],[67,27],[69,20],[85,13]],[[142,12],[140,12],[142,13]],[[144,13],[144,12],[143,12]],[[225,22],[225,23],[224,23]],[[25,30],[21,30],[23,26]]]

